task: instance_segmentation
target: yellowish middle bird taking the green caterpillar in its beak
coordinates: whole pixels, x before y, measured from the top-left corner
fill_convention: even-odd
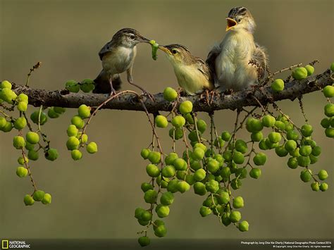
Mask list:
[[[174,68],[178,85],[189,95],[201,94],[214,89],[209,66],[199,57],[193,56],[187,47],[181,44],[170,44],[158,49],[165,52]]]

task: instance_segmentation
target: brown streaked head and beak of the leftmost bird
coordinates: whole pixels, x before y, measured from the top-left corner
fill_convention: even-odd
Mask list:
[[[113,35],[112,42],[122,46],[135,46],[140,42],[149,43],[149,39],[140,35],[140,32],[131,28],[123,28]]]

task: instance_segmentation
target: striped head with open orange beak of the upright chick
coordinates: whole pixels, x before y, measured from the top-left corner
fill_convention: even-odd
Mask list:
[[[226,31],[245,29],[252,33],[256,26],[252,14],[245,7],[232,8],[226,20]]]

